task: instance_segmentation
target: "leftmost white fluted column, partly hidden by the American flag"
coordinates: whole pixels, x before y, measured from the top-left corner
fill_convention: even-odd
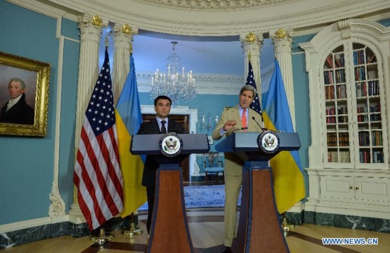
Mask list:
[[[80,133],[84,120],[84,113],[91,98],[92,89],[96,84],[99,74],[99,44],[103,21],[99,16],[91,16],[84,13],[79,16],[80,28],[80,55],[79,55],[79,79],[77,84],[77,108],[76,108],[76,130],[74,153],[79,147]],[[69,215],[82,216],[79,204],[77,203],[77,189],[74,187],[73,204]],[[69,218],[75,221],[72,218]],[[78,222],[79,220],[77,220]]]

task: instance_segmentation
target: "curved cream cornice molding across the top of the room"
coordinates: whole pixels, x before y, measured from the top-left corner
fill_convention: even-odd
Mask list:
[[[378,15],[379,18],[383,10],[390,7],[390,1],[384,0],[310,1],[306,5],[301,4],[302,0],[128,0],[125,6],[119,0],[109,3],[104,0],[9,1],[40,13],[48,11],[50,16],[57,12],[57,15],[69,16],[74,21],[77,21],[77,15],[90,12],[103,20],[129,23],[142,30],[198,36],[239,35],[248,31],[264,33],[281,25],[298,30],[299,35],[302,35],[303,30],[327,26],[340,19],[370,15]],[[161,5],[157,5],[157,2]],[[176,2],[181,4],[169,6]],[[240,8],[213,9],[211,3],[214,2]],[[182,8],[185,3],[190,3],[188,8],[191,9]],[[186,11],[186,15],[182,15],[183,11]]]

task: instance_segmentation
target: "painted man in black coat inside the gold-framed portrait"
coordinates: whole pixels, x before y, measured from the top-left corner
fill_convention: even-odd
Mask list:
[[[34,109],[26,103],[26,84],[22,79],[14,77],[9,81],[11,99],[1,108],[0,123],[34,125]]]

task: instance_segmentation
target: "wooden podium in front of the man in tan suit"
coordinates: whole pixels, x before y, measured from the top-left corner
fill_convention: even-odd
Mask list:
[[[257,142],[260,133],[233,133],[216,145],[218,152],[235,152],[245,161],[243,189],[234,253],[289,252],[274,201],[269,159],[280,151],[299,150],[296,133],[276,133],[280,145],[276,152],[263,152]]]

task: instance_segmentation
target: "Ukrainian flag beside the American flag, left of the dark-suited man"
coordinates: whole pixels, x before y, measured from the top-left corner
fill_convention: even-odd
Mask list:
[[[124,207],[121,216],[126,217],[147,201],[146,188],[141,185],[145,159],[130,153],[131,135],[138,132],[142,123],[133,56],[130,56],[130,72],[119,97],[115,114],[124,181]]]

